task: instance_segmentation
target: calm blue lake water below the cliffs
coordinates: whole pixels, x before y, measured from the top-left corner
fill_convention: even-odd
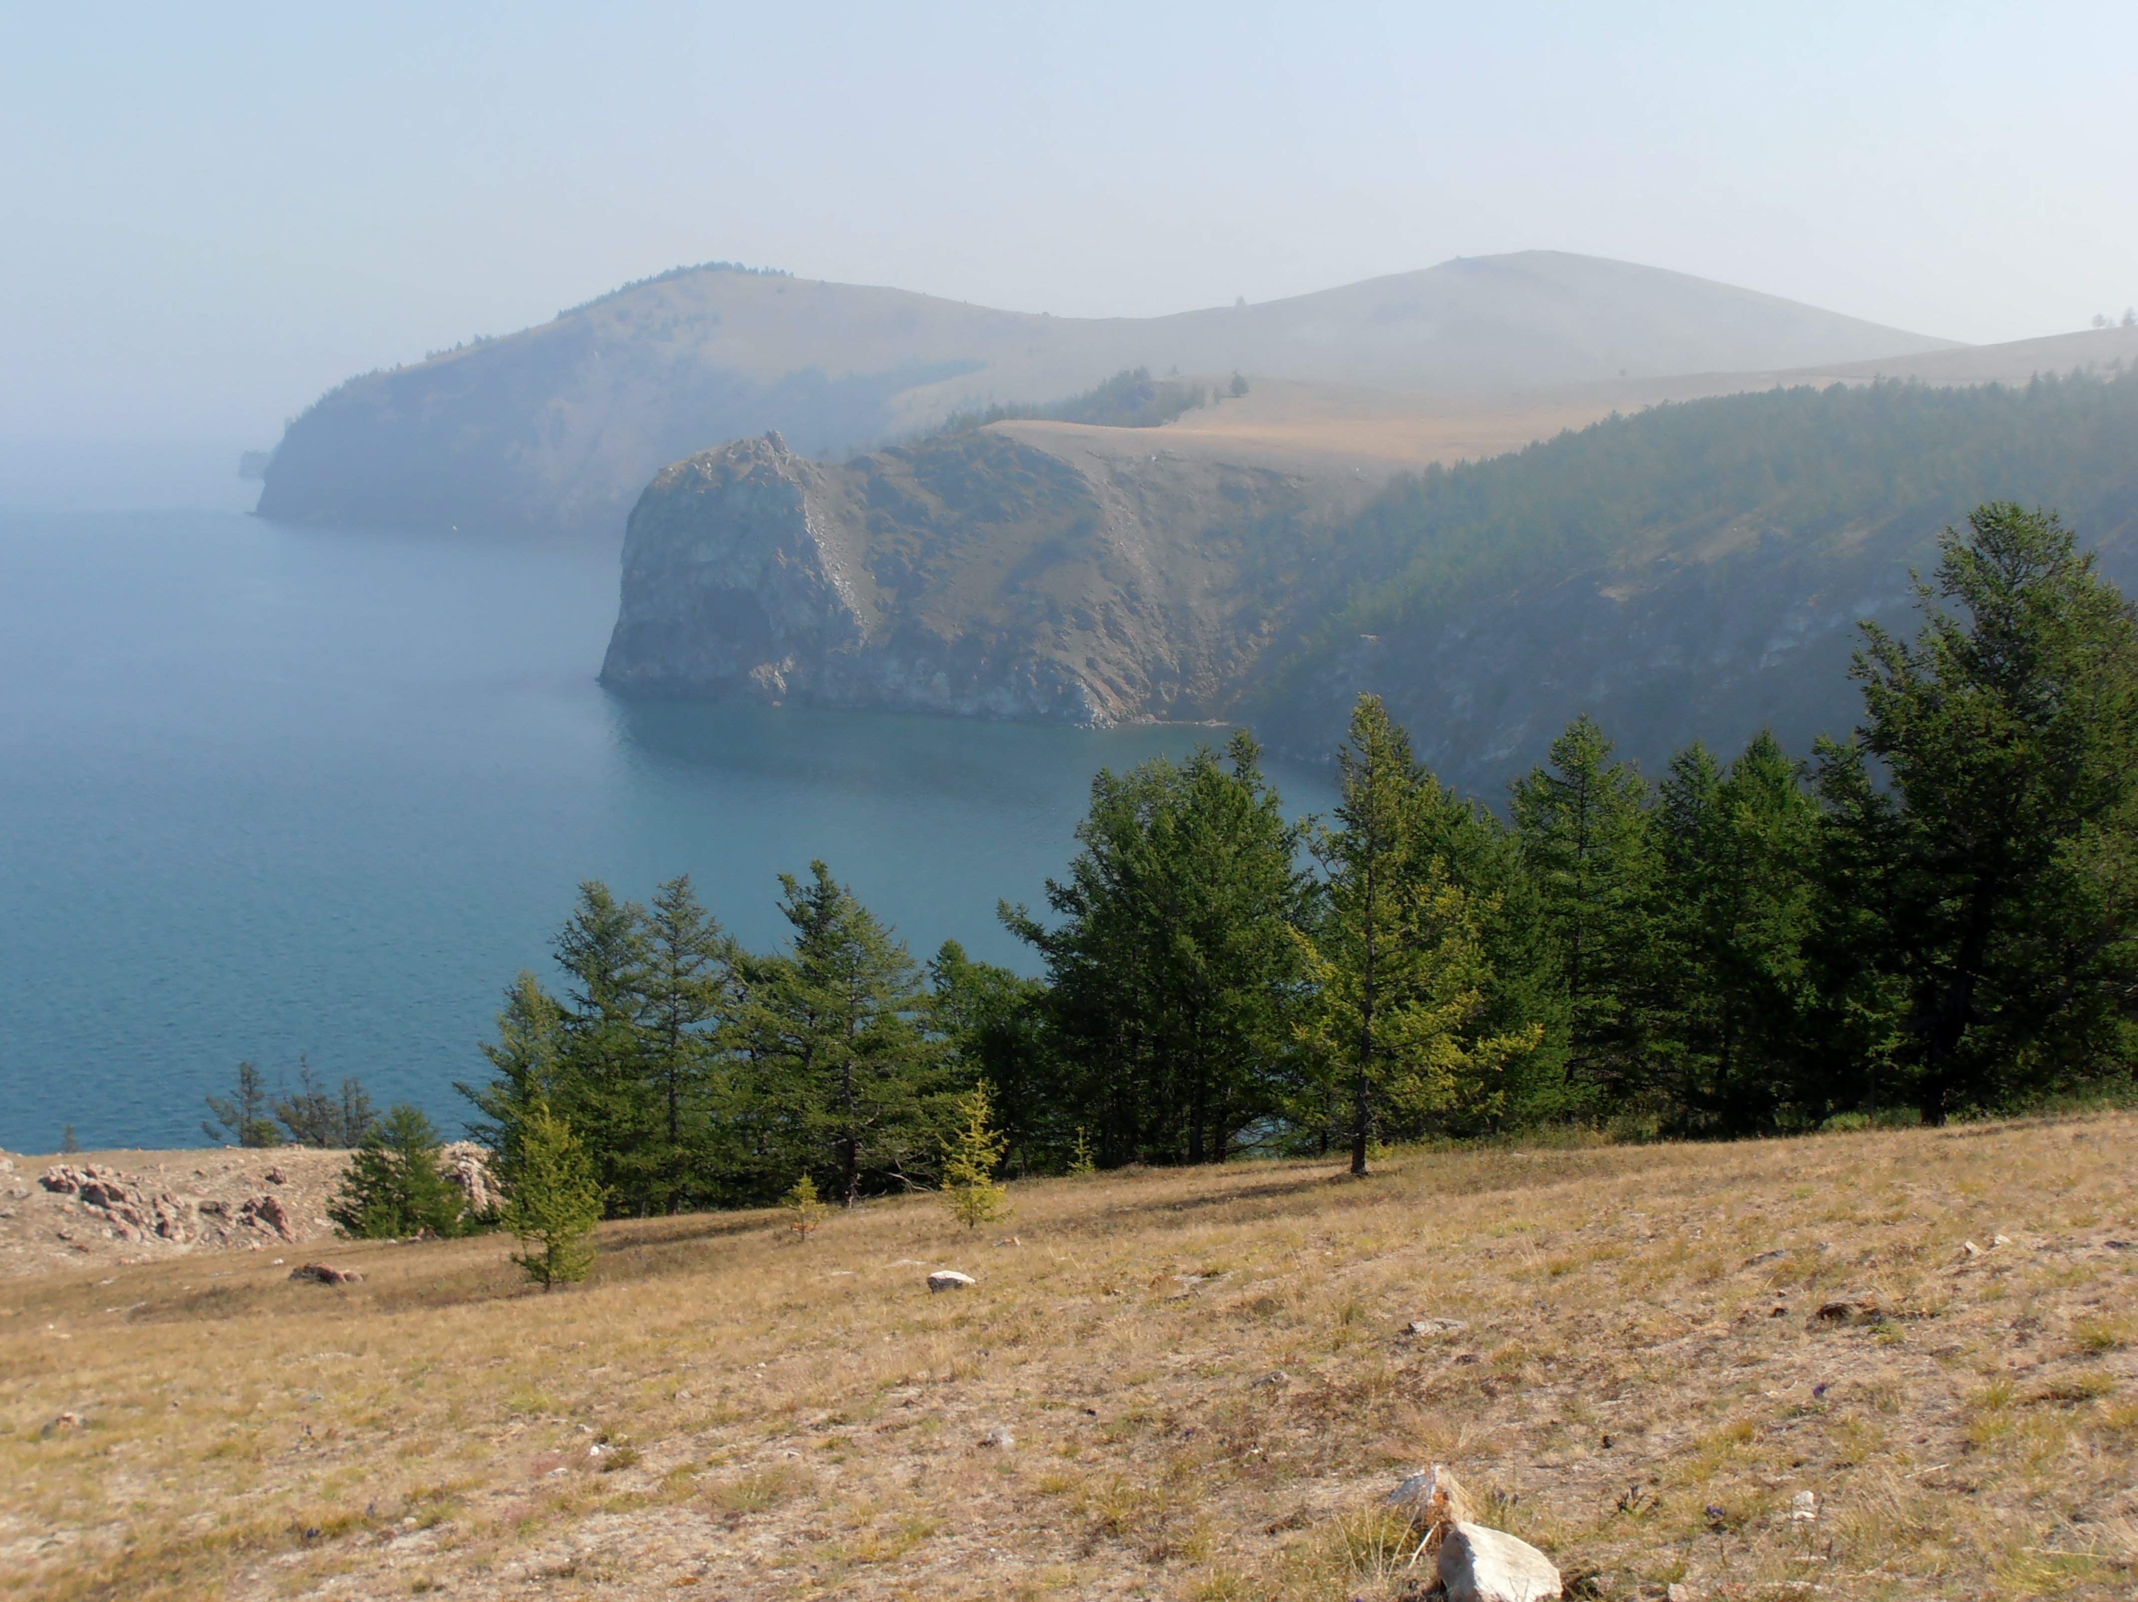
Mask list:
[[[0,518],[0,1146],[201,1144],[239,1057],[462,1123],[579,879],[746,943],[823,858],[917,956],[1031,969],[1090,776],[1219,729],[633,704],[616,563],[224,513]],[[1291,811],[1326,779],[1276,766]]]

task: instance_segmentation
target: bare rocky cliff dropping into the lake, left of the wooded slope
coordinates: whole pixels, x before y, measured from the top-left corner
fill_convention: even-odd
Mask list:
[[[1052,723],[1219,717],[1270,642],[1300,475],[988,428],[842,466],[778,434],[665,468],[631,513],[603,682],[635,695]],[[1114,436],[1114,438],[1105,438]]]

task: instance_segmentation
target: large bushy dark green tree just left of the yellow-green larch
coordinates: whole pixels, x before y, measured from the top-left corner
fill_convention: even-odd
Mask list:
[[[1048,881],[1065,922],[1001,909],[1048,965],[1052,1048],[1105,1161],[1223,1161],[1285,1106],[1311,883],[1259,755],[1238,734],[1227,764],[1101,770],[1069,879]]]

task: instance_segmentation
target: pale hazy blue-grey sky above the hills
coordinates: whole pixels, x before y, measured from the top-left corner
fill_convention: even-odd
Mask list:
[[[0,505],[706,259],[1054,314],[1582,250],[1963,340],[2138,302],[2138,6],[0,9]]]

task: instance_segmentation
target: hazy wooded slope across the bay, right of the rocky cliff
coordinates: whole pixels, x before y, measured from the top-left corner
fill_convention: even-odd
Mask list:
[[[1762,725],[1800,751],[1854,725],[1856,622],[1911,627],[1909,567],[1990,498],[2138,580],[2138,374],[1723,396],[1426,468],[1306,554],[1242,710],[1323,751],[1379,691],[1494,800],[1584,710],[1651,766]]]

